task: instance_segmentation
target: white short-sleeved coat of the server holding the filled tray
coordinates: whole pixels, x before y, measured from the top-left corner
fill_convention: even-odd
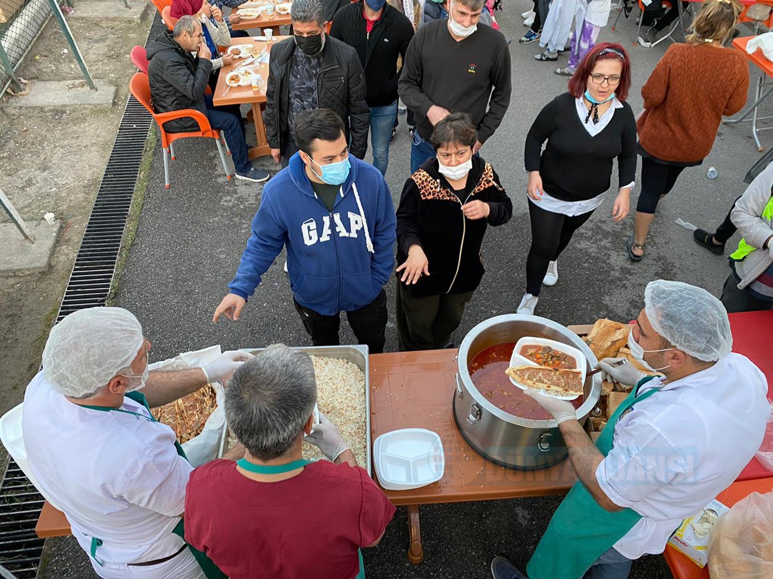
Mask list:
[[[764,374],[741,354],[681,380],[654,378],[639,394],[661,386],[621,416],[596,470],[613,503],[642,515],[614,545],[628,559],[662,553],[684,518],[734,482],[770,415]]]

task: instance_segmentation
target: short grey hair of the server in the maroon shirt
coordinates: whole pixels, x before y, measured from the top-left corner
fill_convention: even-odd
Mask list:
[[[250,455],[276,459],[292,448],[316,401],[312,359],[271,344],[233,373],[226,388],[226,421]]]

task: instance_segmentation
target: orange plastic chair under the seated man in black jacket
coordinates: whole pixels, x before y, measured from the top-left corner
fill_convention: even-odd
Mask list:
[[[226,171],[226,179],[230,180],[231,174],[226,165],[226,155],[223,152],[223,146],[220,144],[220,131],[209,126],[209,119],[199,110],[182,109],[172,110],[169,113],[156,113],[151,104],[150,82],[148,75],[135,73],[129,81],[129,91],[143,107],[151,113],[153,120],[158,124],[158,130],[161,131],[161,146],[164,150],[164,181],[166,188],[169,189],[169,157],[175,158],[174,142],[186,137],[208,137],[214,139],[217,144],[217,151],[220,153],[220,161],[223,162],[223,171]],[[191,118],[199,124],[198,131],[191,133],[167,133],[164,130],[164,123],[168,120]]]

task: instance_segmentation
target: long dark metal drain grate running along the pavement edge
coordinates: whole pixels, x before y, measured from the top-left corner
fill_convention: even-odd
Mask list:
[[[148,41],[166,29],[157,12]],[[107,300],[151,124],[152,118],[145,107],[129,95],[57,323],[74,311],[104,306]],[[35,534],[35,525],[42,509],[43,496],[9,459],[0,483],[0,564],[18,579],[37,576],[43,539]]]

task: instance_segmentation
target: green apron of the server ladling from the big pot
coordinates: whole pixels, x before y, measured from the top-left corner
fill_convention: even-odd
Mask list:
[[[642,378],[628,398],[609,419],[596,447],[604,456],[612,449],[612,435],[621,415],[636,402],[649,398],[660,388],[637,395],[642,384],[652,380]],[[581,579],[585,571],[625,537],[642,516],[632,509],[611,513],[602,508],[579,480],[569,491],[550,520],[540,544],[526,565],[530,579]]]

